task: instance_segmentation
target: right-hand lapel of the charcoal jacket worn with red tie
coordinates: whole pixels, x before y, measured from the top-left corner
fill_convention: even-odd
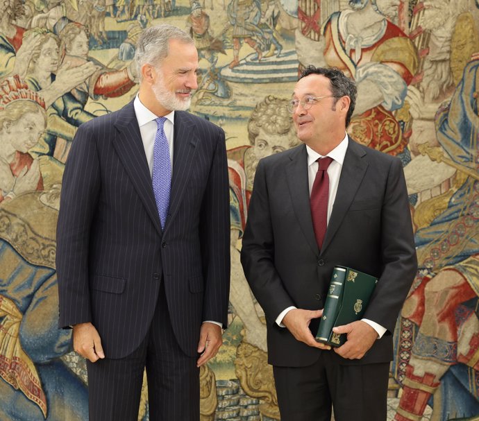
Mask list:
[[[356,191],[358,191],[358,188],[360,187],[368,166],[367,160],[364,159],[365,155],[366,153],[362,148],[360,148],[358,144],[355,144],[353,140],[349,139],[348,149],[344,156],[341,176],[339,177],[339,185],[337,187],[333,212],[331,212],[321,252],[326,250],[333,239],[346,215],[346,212],[353,202]]]

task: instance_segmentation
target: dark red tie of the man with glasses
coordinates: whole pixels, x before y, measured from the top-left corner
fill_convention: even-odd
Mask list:
[[[316,236],[319,250],[321,250],[328,223],[329,177],[327,170],[329,164],[333,162],[333,158],[323,157],[319,158],[317,162],[319,164],[318,172],[312,184],[310,205],[312,227],[314,228],[314,235]]]

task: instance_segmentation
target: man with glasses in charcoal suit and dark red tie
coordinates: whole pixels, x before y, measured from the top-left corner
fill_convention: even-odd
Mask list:
[[[243,237],[246,279],[267,317],[282,421],[385,421],[392,332],[417,269],[401,162],[346,135],[356,88],[308,67],[289,111],[303,145],[256,170]],[[333,267],[378,277],[364,318],[317,343]]]

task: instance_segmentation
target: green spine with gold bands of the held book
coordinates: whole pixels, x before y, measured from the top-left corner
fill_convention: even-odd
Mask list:
[[[319,322],[317,341],[326,342],[331,334],[331,330],[335,325],[335,320],[339,309],[341,308],[341,298],[344,290],[344,282],[346,280],[346,269],[335,267],[331,282],[329,284],[328,295],[324,303],[323,316]]]

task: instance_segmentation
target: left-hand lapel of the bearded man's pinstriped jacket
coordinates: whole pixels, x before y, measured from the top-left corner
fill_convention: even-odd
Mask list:
[[[142,200],[146,213],[149,214],[158,233],[162,235],[160,217],[156,209],[153,185],[151,184],[151,175],[144,153],[133,101],[122,108],[117,116],[115,127],[118,130],[118,135],[115,136],[113,146],[131,182],[133,182],[137,194]]]

